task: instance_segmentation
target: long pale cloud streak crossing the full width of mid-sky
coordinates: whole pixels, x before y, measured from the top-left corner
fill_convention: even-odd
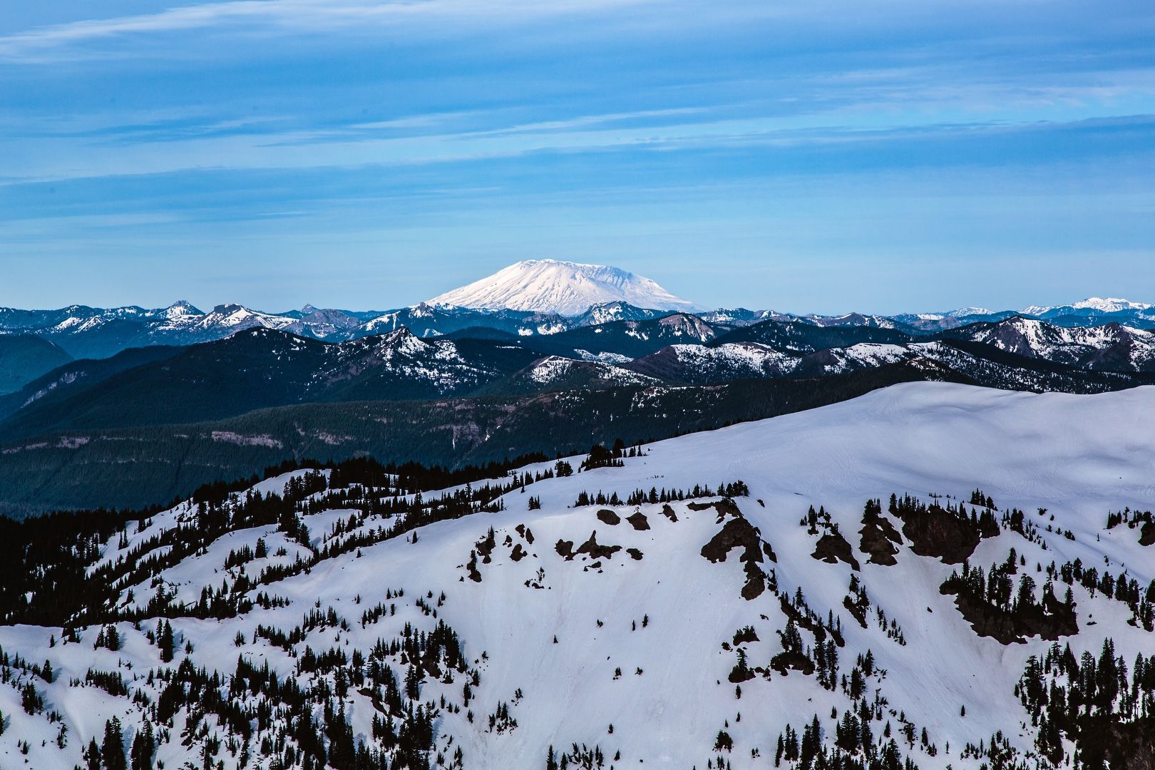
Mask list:
[[[984,91],[985,92],[985,91]],[[870,99],[879,98],[871,94]],[[470,163],[549,152],[686,151],[737,147],[807,147],[878,143],[925,136],[969,136],[1043,127],[1112,125],[1097,104],[1075,98],[1031,97],[1029,110],[982,103],[959,94],[924,99],[922,109],[892,102],[836,105],[818,112],[718,117],[717,105],[576,115],[483,130],[438,130],[461,115],[411,115],[396,121],[325,129],[268,132],[273,119],[215,121],[196,127],[133,127],[116,141],[54,136],[12,142],[7,184],[98,177],[164,174],[195,170],[322,169]],[[932,106],[931,106],[932,105]],[[1141,100],[1138,106],[1142,106]],[[1131,111],[1139,114],[1142,111]],[[1153,110],[1152,112],[1155,112]],[[476,119],[476,115],[474,115]],[[1131,120],[1131,118],[1123,118]],[[401,136],[382,129],[407,127]],[[142,141],[147,140],[147,141]]]

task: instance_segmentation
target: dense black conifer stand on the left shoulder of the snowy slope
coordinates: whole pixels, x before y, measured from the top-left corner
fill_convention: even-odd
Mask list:
[[[344,492],[329,488],[321,503],[306,501],[310,495],[320,494],[334,486],[326,484],[323,474],[319,472],[306,473],[296,479],[297,485],[307,486],[286,485],[281,494],[240,495],[241,491],[260,480],[255,476],[204,484],[192,495],[196,515],[187,525],[148,538],[133,548],[122,551],[116,561],[95,570],[100,547],[110,538],[119,532],[121,545],[127,545],[125,538],[131,522],[137,522],[140,530],[147,530],[156,514],[174,507],[179,501],[132,510],[98,508],[58,511],[21,521],[0,517],[0,622],[42,626],[106,622],[113,616],[105,612],[105,607],[111,606],[118,586],[159,573],[232,529],[278,524],[291,538],[300,540],[303,536],[307,538],[301,530],[301,513],[343,507],[360,509],[363,516],[405,514],[403,522],[395,522],[388,529],[379,528],[373,537],[346,537],[342,539],[340,547],[337,544],[327,545],[314,558],[337,555],[432,521],[472,513],[499,495],[532,483],[535,477],[515,473],[497,485],[486,484],[476,488],[468,486],[467,489],[429,500],[422,496],[422,492],[500,478],[514,468],[541,459],[544,459],[541,455],[530,455],[452,470],[437,465],[426,468],[412,462],[400,465],[379,463],[365,457],[338,463],[285,461],[266,468],[264,478],[303,468],[323,468],[340,484],[355,486]],[[537,476],[543,477],[542,473]],[[149,554],[165,545],[172,547],[164,555]],[[255,583],[251,577],[238,580],[231,586],[229,597],[203,597],[202,606],[192,612],[202,616],[234,614],[240,608],[239,597],[253,585],[296,574],[306,569],[310,563],[303,560],[296,568],[270,568],[274,571],[264,575],[263,580],[258,578]],[[173,610],[159,592],[151,601],[149,611],[152,614]]]

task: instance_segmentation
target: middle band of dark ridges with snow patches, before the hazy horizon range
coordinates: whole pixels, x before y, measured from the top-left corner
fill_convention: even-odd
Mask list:
[[[1064,328],[1011,316],[929,335],[805,319],[730,326],[672,313],[549,335],[465,327],[418,337],[397,326],[327,342],[258,326],[195,345],[149,345],[65,362],[0,395],[0,441],[200,423],[304,403],[708,386],[894,364],[1008,389],[1115,390],[1155,382],[1155,331],[1113,322]]]

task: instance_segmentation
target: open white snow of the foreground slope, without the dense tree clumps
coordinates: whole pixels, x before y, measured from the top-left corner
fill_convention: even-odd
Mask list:
[[[1040,586],[1045,575],[1035,571],[1036,562],[1045,568],[1052,560],[1061,565],[1075,558],[1111,575],[1125,570],[1143,588],[1155,578],[1155,548],[1139,545],[1134,529],[1104,529],[1109,510],[1147,509],[1155,500],[1155,389],[1150,388],[1070,396],[903,384],[810,412],[658,442],[624,463],[537,481],[524,493],[506,494],[502,511],[438,522],[415,530],[416,537],[405,534],[326,559],[307,574],[252,591],[283,597],[288,606],[256,607],[224,620],[174,616],[178,650],[171,664],[162,664],[158,648],[146,638],[155,619],[143,620],[140,630],[131,622],[118,623],[124,640],[118,651],[94,649],[100,630],[96,626],[80,631],[80,643],[54,646],[50,637],[59,641],[60,628],[0,628],[7,653],[31,663],[49,659],[55,671],[51,685],[15,670],[18,676],[0,685],[0,710],[10,720],[0,735],[0,764],[17,767],[27,761],[35,768],[72,768],[82,763],[80,753],[90,738],[99,741],[112,716],[119,716],[129,739],[146,717],[156,719],[148,707],[129,697],[70,686],[90,668],[120,671],[129,694],[143,693],[155,703],[164,682],[151,681],[149,671],[179,664],[186,642],[192,663],[219,672],[228,689],[238,656],[258,667],[268,661],[291,678],[306,646],[316,652],[336,648],[346,655],[362,650],[368,656],[379,638],[397,637],[405,623],[429,631],[444,621],[460,635],[467,667],[477,671],[479,681],[465,703],[462,686],[469,674],[450,673],[452,683],[426,676],[420,685],[418,702],[439,704],[437,750],[429,755],[433,764],[440,755],[452,765],[460,748],[460,764],[465,768],[539,768],[547,747],[569,750],[576,742],[579,748],[599,747],[605,767],[644,762],[644,767],[706,768],[708,761],[723,757],[728,767],[768,768],[774,764],[776,738],[788,724],[800,732],[817,715],[824,741],[830,745],[837,722],[832,709],[842,716],[855,705],[841,687],[826,689],[814,674],[770,671],[770,659],[784,645],[777,631],[788,626],[785,606],[774,593],[776,582],[783,598],[792,599],[800,590],[822,622],[835,620],[845,641],[839,649],[841,674],[848,674],[856,656],[866,650],[885,670],[885,675],[866,680],[867,700],[885,703],[884,719],[874,723],[875,739],[891,724],[901,742],[902,720],[908,719],[917,731],[925,727],[934,747],[932,756],[917,741],[909,749],[902,743],[903,754],[919,767],[977,768],[989,760],[961,757],[960,752],[967,743],[990,741],[997,731],[1020,756],[1033,749],[1037,731],[1015,697],[1015,682],[1028,657],[1042,655],[1051,642],[1031,636],[1026,643],[1004,644],[977,636],[954,597],[939,590],[957,566],[916,555],[909,537],[902,538],[896,565],[867,563],[858,536],[865,501],[880,498],[882,516],[901,530],[902,523],[885,513],[892,493],[927,501],[938,493],[966,502],[981,487],[1000,509],[1024,510],[1040,533],[1028,539],[1004,528],[979,543],[974,565],[1001,563],[1013,547],[1024,560],[1020,573],[1033,575]],[[278,491],[288,478],[263,481],[260,491]],[[730,522],[740,521],[725,503],[707,506],[717,498],[671,502],[669,513],[662,503],[574,507],[583,491],[625,499],[636,488],[716,487],[738,479],[748,486],[748,494],[735,502],[760,532],[754,551],[766,555],[758,568],[773,576],[769,588],[751,598],[743,592],[748,578],[739,561],[743,546],[736,545],[724,561],[703,556],[703,546]],[[539,499],[541,509],[527,509],[529,498]],[[818,533],[799,525],[811,506],[829,513],[859,569],[812,556]],[[598,511],[608,508],[616,516],[599,517]],[[1040,508],[1046,514],[1037,513]],[[627,521],[639,511],[644,522]],[[311,548],[319,550],[350,513],[356,511],[305,516]],[[194,507],[178,507],[156,516],[143,532],[132,522],[126,531],[128,548],[112,538],[103,546],[103,558],[114,561],[135,544],[194,515]],[[620,521],[608,523],[611,518]],[[370,516],[359,530],[370,531],[381,521]],[[1049,526],[1070,531],[1073,539],[1046,531]],[[490,528],[494,546],[486,563],[478,552],[485,551]],[[621,550],[562,555],[587,543],[591,532],[598,545]],[[348,534],[329,541],[341,537]],[[158,577],[124,585],[121,604],[146,606],[157,585],[170,586],[178,601],[194,603],[202,588],[213,591],[222,581],[233,583],[239,573],[225,569],[225,556],[244,545],[255,547],[259,538],[270,555],[247,565],[253,577],[263,566],[290,565],[299,553],[310,552],[276,526],[234,531]],[[276,555],[281,546],[285,552]],[[852,575],[871,600],[865,627],[844,604]],[[393,597],[398,589],[403,597]],[[1064,589],[1057,582],[1060,598]],[[393,598],[386,598],[387,590]],[[1155,648],[1155,636],[1141,625],[1127,623],[1131,611],[1125,604],[1102,595],[1091,598],[1078,584],[1073,598],[1079,631],[1059,642],[1068,642],[1076,657],[1085,650],[1097,656],[1108,637],[1128,663]],[[427,606],[416,605],[418,599]],[[363,612],[378,603],[395,605],[395,614],[387,612],[363,626]],[[321,623],[291,651],[255,635],[259,625],[288,631],[306,613],[329,607],[348,621],[348,628]],[[878,610],[885,611],[886,623],[878,622]],[[757,641],[747,638],[740,646],[758,673],[740,682],[739,697],[729,678],[737,663],[736,631],[747,626]],[[896,638],[900,635],[904,644]],[[818,646],[813,631],[803,630],[802,638],[806,648]],[[386,661],[400,682],[408,668],[404,657]],[[30,680],[43,693],[46,708],[59,711],[68,725],[62,749],[54,742],[59,725],[21,709],[16,682]],[[299,676],[303,686],[315,681],[307,673]],[[372,745],[372,719],[380,710],[363,694],[367,691],[350,688],[343,703],[356,739]],[[246,695],[238,702],[258,701]],[[462,708],[455,710],[454,704]],[[501,730],[498,719],[491,730],[489,716],[499,713],[502,704],[516,727]],[[206,738],[226,734],[211,715],[200,723],[202,730],[182,737],[188,724],[187,716],[178,713],[170,740],[159,746],[156,756],[166,768],[185,762],[202,767]],[[245,756],[248,767],[275,767],[259,743],[262,735],[274,735],[275,742],[276,730],[255,733]],[[720,731],[732,739],[732,750],[713,750]],[[30,745],[27,755],[18,741]],[[613,758],[616,753],[620,758]],[[230,753],[226,741],[213,761],[236,768],[241,767],[241,755]]]

